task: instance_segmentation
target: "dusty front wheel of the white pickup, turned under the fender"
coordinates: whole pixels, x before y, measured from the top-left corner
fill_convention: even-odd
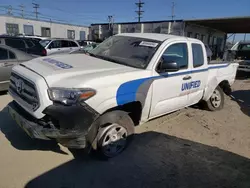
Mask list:
[[[113,111],[101,117],[97,135],[97,153],[112,158],[124,151],[134,134],[134,123],[126,112]]]

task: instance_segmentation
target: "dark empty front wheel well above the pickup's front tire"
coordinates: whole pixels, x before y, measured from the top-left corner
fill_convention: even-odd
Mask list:
[[[141,114],[142,114],[142,105],[139,101],[130,102],[124,105],[116,106],[114,108],[107,110],[105,113],[115,111],[115,110],[121,110],[121,111],[127,112],[130,118],[132,119],[134,125],[140,124]]]

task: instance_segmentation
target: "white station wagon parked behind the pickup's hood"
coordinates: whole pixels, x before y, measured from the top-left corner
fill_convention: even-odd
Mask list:
[[[40,44],[47,51],[47,55],[70,53],[81,48],[76,41],[70,39],[46,39],[41,40]]]

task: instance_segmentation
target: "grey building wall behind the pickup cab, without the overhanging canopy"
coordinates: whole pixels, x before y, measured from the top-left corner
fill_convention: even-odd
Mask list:
[[[210,46],[214,56],[223,52],[227,33],[184,20],[164,20],[150,22],[127,22],[115,24],[92,24],[90,35],[93,40],[105,39],[119,33],[163,33],[197,38]]]

